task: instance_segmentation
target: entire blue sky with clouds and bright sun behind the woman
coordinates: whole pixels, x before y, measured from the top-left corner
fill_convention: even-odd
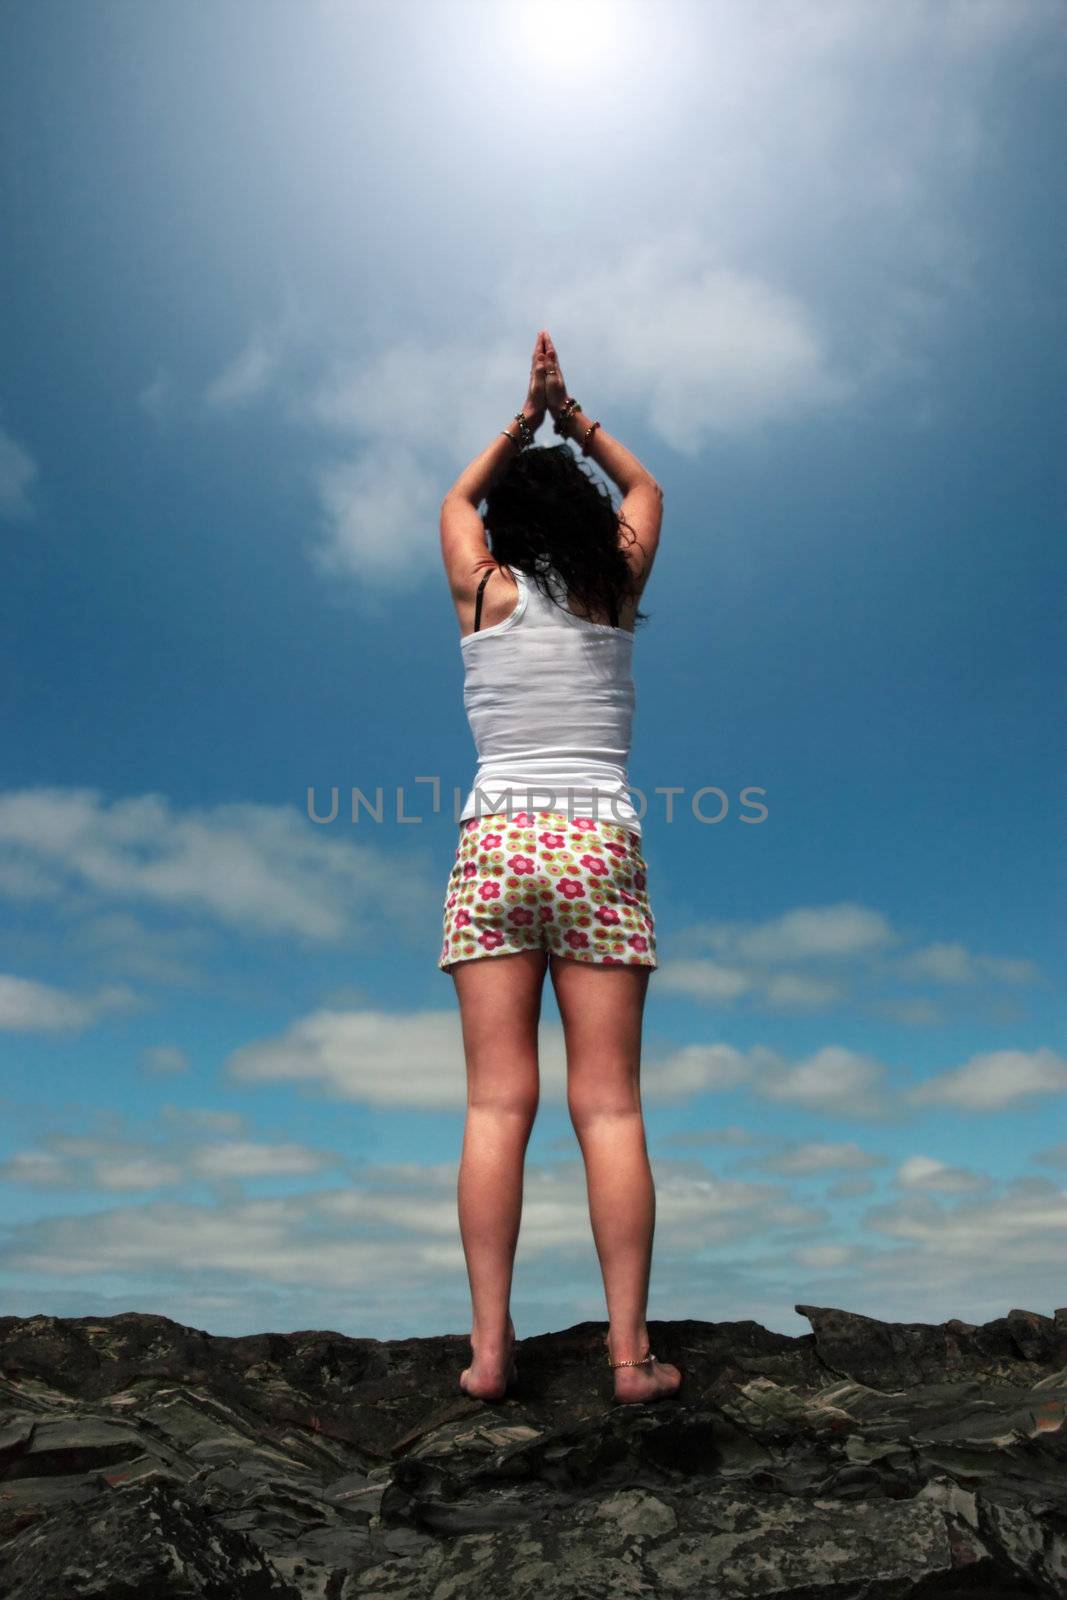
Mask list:
[[[3,8],[0,1310],[469,1330],[437,509],[545,326],[665,490],[649,1317],[1051,1314],[1065,77],[1029,0]],[[549,984],[541,1067],[520,1338],[605,1317]]]

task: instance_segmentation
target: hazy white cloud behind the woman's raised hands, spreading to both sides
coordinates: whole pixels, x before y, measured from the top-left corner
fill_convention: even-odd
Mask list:
[[[569,358],[600,374],[603,403],[627,406],[640,395],[653,429],[689,454],[702,432],[752,427],[798,402],[837,403],[849,392],[824,370],[800,302],[709,266],[689,237],[645,242],[600,272],[585,269],[579,288],[557,290],[549,304],[557,328],[573,323]],[[294,419],[358,442],[350,458],[312,474],[325,526],[310,557],[323,576],[421,581],[419,557],[437,558],[445,490],[485,446],[486,416],[507,418],[518,405],[528,362],[530,350],[499,333],[435,346],[405,336],[365,363],[334,362],[291,405]]]

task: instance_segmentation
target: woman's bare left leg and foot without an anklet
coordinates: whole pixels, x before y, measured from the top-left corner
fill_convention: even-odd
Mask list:
[[[504,1394],[515,1342],[509,1302],[523,1166],[541,1094],[537,1022],[545,970],[544,950],[453,966],[467,1058],[458,1198],[475,1357],[461,1374],[461,1387],[483,1400]]]

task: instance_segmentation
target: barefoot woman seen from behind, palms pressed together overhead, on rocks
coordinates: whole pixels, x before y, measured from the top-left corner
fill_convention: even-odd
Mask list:
[[[557,434],[619,486],[621,512],[568,443],[530,448],[545,410]],[[459,1386],[482,1400],[499,1400],[517,1376],[509,1302],[545,971],[566,1040],[616,1398],[654,1400],[681,1382],[677,1366],[651,1354],[645,1322],[656,1194],[640,1053],[657,958],[641,822],[625,778],[633,629],[645,619],[638,598],[661,517],[659,485],[568,398],[552,339],[539,333],[522,411],[442,506],[478,749],[438,966],[456,984],[467,1058],[459,1226],[474,1362]]]

